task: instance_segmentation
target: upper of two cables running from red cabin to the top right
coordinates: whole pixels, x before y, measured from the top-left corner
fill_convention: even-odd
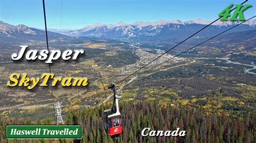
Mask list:
[[[244,4],[244,3],[246,3],[246,2],[247,2],[247,0],[246,0],[245,2],[243,2],[243,3],[241,3],[241,4]],[[232,10],[230,10],[230,12],[233,11],[233,10],[235,10],[236,8],[237,8],[237,7],[235,7],[235,8],[232,9]],[[193,37],[193,36],[196,35],[197,33],[203,31],[205,28],[207,28],[208,26],[210,26],[210,25],[212,25],[213,23],[217,22],[217,21],[218,21],[220,18],[222,18],[222,17],[223,17],[223,16],[217,18],[216,20],[214,20],[214,21],[211,22],[210,24],[208,24],[208,25],[206,25],[205,27],[201,28],[201,29],[200,29],[199,31],[197,31],[196,33],[190,35],[190,37],[188,37],[188,38],[186,38],[185,40],[179,42],[179,44],[177,44],[176,46],[170,48],[168,51],[166,51],[165,53],[161,54],[161,55],[158,56],[156,59],[154,59],[154,60],[152,60],[151,62],[147,63],[146,65],[144,65],[143,67],[139,68],[138,70],[134,71],[132,74],[130,74],[129,76],[125,77],[123,80],[119,81],[117,84],[123,82],[124,80],[126,80],[126,79],[129,78],[130,76],[136,74],[139,70],[142,70],[142,69],[145,68],[147,65],[150,65],[150,63],[152,63],[153,61],[156,61],[156,60],[159,59],[161,56],[163,56],[163,55],[165,55],[166,53],[170,52],[172,49],[176,48],[177,46],[179,46],[180,44],[182,44],[182,43],[185,42],[186,40],[190,39],[191,37]]]

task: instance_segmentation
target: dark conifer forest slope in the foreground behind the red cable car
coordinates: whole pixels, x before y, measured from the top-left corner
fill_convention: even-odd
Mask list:
[[[121,102],[123,134],[111,139],[103,128],[103,110],[109,105],[97,108],[84,108],[82,111],[69,112],[66,125],[82,125],[81,140],[68,142],[255,142],[255,118],[231,118],[227,113],[207,113],[183,105],[171,106],[170,102]],[[24,117],[26,118],[26,117]],[[45,118],[33,121],[26,119],[0,120],[0,131],[5,125],[49,125],[52,120]],[[185,137],[142,137],[142,130],[173,131],[185,130]],[[5,132],[1,132],[0,141],[5,141]],[[40,139],[36,141],[42,141]],[[56,141],[56,140],[55,140]],[[60,140],[64,141],[64,140]]]

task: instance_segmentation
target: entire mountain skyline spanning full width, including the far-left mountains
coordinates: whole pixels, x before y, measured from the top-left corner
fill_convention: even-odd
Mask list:
[[[180,20],[158,20],[157,22],[135,22],[127,24],[118,22],[116,24],[96,23],[85,26],[78,30],[57,30],[50,29],[48,32],[49,41],[54,42],[59,37],[63,41],[75,39],[75,37],[105,38],[122,41],[139,42],[173,42],[184,39],[197,32],[211,22],[196,19],[187,22]],[[193,38],[205,38],[223,32],[238,22],[217,21],[208,26],[205,30],[198,33]],[[256,20],[245,22],[231,32],[256,30]],[[57,33],[56,33],[57,32]],[[61,34],[59,34],[61,33]],[[11,25],[0,21],[0,42],[33,42],[45,41],[45,31],[38,28],[32,28],[25,25]]]

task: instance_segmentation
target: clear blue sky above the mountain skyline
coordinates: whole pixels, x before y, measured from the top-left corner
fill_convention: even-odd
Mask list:
[[[45,0],[49,28],[77,29],[94,23],[117,23],[124,21],[151,21],[159,19],[181,21],[201,18],[214,20],[229,4],[242,0]],[[60,13],[62,7],[62,24]],[[253,7],[244,12],[245,18],[256,13],[256,1],[249,0]],[[12,25],[44,27],[42,0],[0,0],[0,20]]]

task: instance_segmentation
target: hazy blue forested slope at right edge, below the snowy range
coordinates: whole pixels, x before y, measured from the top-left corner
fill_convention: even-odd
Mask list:
[[[186,41],[183,46],[177,47],[175,51],[183,51],[210,38],[211,37]],[[221,34],[195,49],[192,49],[188,54],[191,54],[190,56],[218,57],[241,52],[255,56],[255,45],[256,30],[246,30]],[[164,50],[167,50],[167,48],[164,48]]]

